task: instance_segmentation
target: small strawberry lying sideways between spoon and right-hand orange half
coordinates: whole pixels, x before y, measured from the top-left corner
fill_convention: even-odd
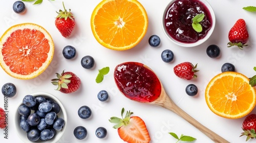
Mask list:
[[[176,76],[178,76],[181,79],[184,80],[191,80],[197,78],[197,75],[195,73],[199,70],[195,70],[197,68],[190,62],[183,62],[174,67],[174,73]]]

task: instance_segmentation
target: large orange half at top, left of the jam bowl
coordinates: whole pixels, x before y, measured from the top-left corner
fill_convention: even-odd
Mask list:
[[[95,39],[112,50],[128,50],[147,31],[148,19],[137,0],[103,0],[93,10],[91,29]]]

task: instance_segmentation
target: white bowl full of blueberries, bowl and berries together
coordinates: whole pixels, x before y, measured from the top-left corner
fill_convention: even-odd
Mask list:
[[[55,96],[37,92],[17,105],[14,123],[24,142],[57,142],[67,127],[67,112]]]

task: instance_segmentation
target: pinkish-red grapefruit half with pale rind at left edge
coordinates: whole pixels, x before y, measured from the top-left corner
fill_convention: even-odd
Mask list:
[[[10,27],[0,38],[0,65],[17,79],[32,79],[50,64],[54,53],[51,35],[34,23]]]

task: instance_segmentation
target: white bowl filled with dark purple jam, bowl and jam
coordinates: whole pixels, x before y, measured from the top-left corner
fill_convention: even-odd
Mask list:
[[[197,15],[203,17],[198,22],[201,31],[193,27]],[[194,47],[211,36],[215,22],[214,10],[206,0],[172,0],[163,12],[162,28],[167,38],[175,44]]]

